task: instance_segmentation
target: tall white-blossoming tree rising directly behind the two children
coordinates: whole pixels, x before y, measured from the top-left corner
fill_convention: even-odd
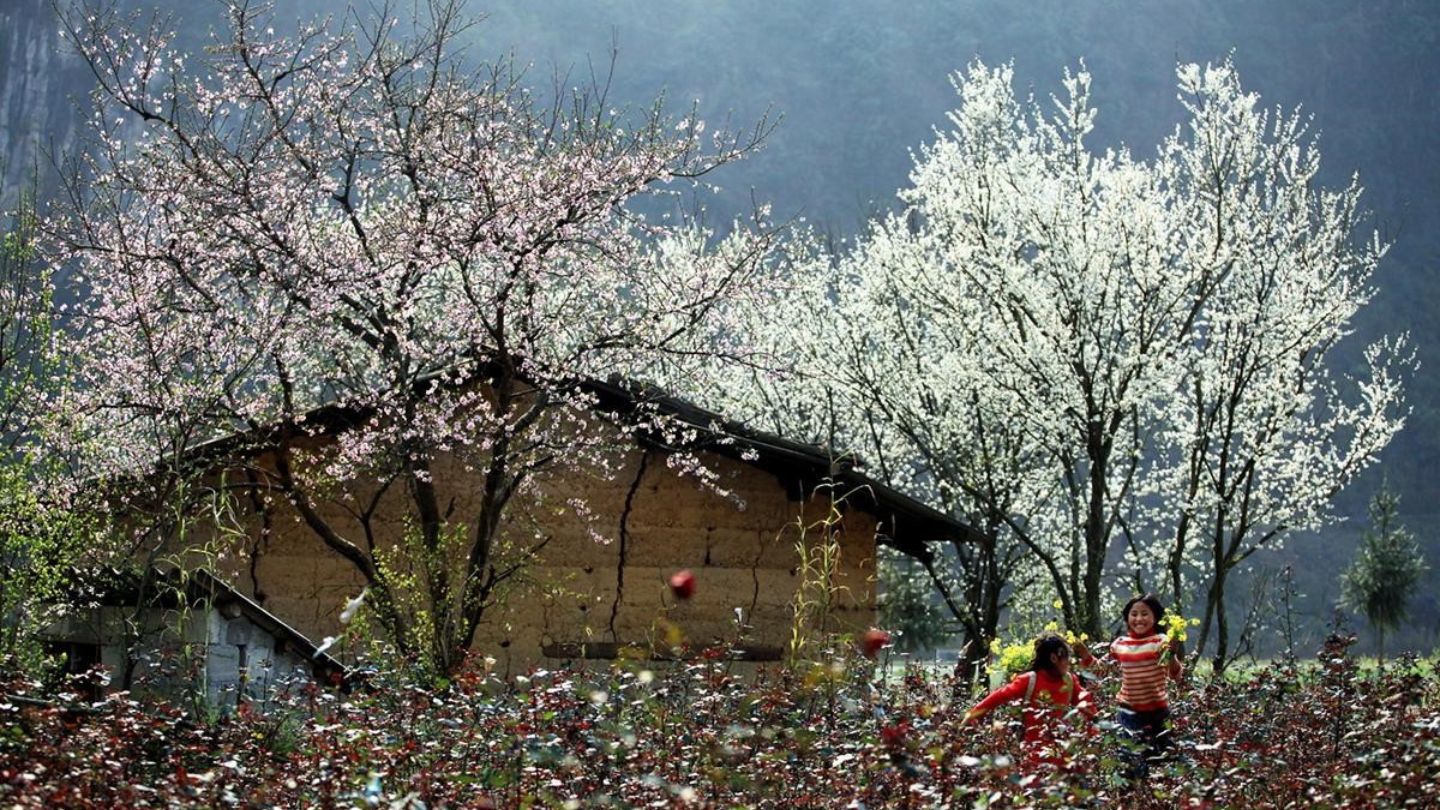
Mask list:
[[[952,610],[988,615],[979,643],[1027,558],[1067,621],[1099,631],[1140,404],[1188,316],[1146,222],[1159,190],[1129,156],[1084,147],[1089,78],[1067,76],[1054,118],[1009,82],[978,63],[956,76],[955,128],[922,148],[904,210],[834,267],[844,326],[802,366],[847,404],[845,447],[988,538],[935,572]]]

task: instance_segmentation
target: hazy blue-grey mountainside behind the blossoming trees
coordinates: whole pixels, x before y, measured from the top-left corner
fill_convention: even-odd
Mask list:
[[[179,14],[183,39],[217,25],[206,0],[127,0]],[[278,17],[343,13],[343,3],[276,0]],[[402,3],[402,12],[409,9]],[[893,205],[909,150],[946,124],[949,75],[979,56],[1014,61],[1021,86],[1048,94],[1060,71],[1084,59],[1100,110],[1096,143],[1153,154],[1179,121],[1178,61],[1234,53],[1248,89],[1267,105],[1303,104],[1322,133],[1323,182],[1358,172],[1374,225],[1395,241],[1381,265],[1377,301],[1356,324],[1367,337],[1407,330],[1421,368],[1410,385],[1414,414],[1381,471],[1401,493],[1403,522],[1427,549],[1431,571],[1414,621],[1388,649],[1431,649],[1440,638],[1440,1],[1436,0],[514,0],[475,1],[477,59],[514,53],[528,84],[549,91],[605,74],[619,58],[611,99],[645,105],[658,92],[677,114],[698,102],[713,125],[753,123],[768,110],[783,124],[766,148],[714,176],[717,219],[749,208],[752,193],[780,218],[804,216],[837,236]],[[89,75],[58,49],[49,0],[0,0],[0,154],[7,195],[46,153],[72,150],[73,99]],[[1375,471],[1341,500],[1355,516],[1320,538],[1292,538],[1256,565],[1293,564],[1313,644],[1339,592],[1365,520]],[[1371,636],[1358,623],[1362,636]],[[1368,649],[1368,646],[1365,647]]]

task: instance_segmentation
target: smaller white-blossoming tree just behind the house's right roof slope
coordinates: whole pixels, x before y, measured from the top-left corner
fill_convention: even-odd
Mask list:
[[[877,228],[871,236],[884,233]],[[953,334],[943,319],[923,314],[927,298],[912,282],[904,268],[812,246],[776,287],[775,304],[746,327],[773,360],[733,366],[726,383],[693,395],[805,437],[828,448],[835,466],[864,466],[972,529],[906,566],[923,572],[959,627],[969,679],[988,656],[1012,585],[1037,575],[1011,520],[1037,512],[1024,504],[1044,499],[1051,484],[1028,474],[1027,448],[1004,414],[949,385],[942,369],[960,357]]]

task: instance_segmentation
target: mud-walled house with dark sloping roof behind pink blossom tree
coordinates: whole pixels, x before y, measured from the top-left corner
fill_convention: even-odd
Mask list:
[[[635,405],[631,388],[599,380],[586,385],[596,409],[609,417]],[[815,577],[815,556],[808,555],[806,566],[802,546],[812,551],[829,538],[838,549],[825,623],[844,631],[874,623],[877,543],[923,556],[930,542],[969,532],[835,463],[818,447],[747,430],[654,392],[647,393],[647,404],[693,428],[690,451],[713,471],[717,486],[700,486],[672,468],[667,457],[674,448],[641,434],[616,451],[609,474],[572,470],[540,481],[550,493],[583,497],[588,522],[554,509],[554,499],[511,503],[508,526],[516,532],[540,526],[549,540],[524,581],[485,613],[477,631],[472,650],[494,657],[498,667],[520,670],[562,659],[652,651],[661,634],[667,643],[729,643],[752,660],[775,660],[791,634],[796,589]],[[331,425],[311,428],[310,442],[334,441],[344,430],[343,419],[325,414],[310,422]],[[249,458],[246,464],[255,468],[265,460]],[[445,458],[435,468],[436,480],[444,477],[459,493],[455,497],[464,497],[467,486],[478,486],[458,464],[446,468]],[[387,497],[374,493],[380,512]],[[321,509],[338,525],[348,520],[343,504]],[[356,568],[284,502],[264,510],[242,502],[235,525],[239,530],[225,536],[228,548],[219,555],[217,575],[298,633],[337,636],[347,601],[364,588]],[[403,530],[399,519],[377,525],[377,543],[395,542]],[[696,577],[694,597],[684,601],[665,584],[680,569]]]

